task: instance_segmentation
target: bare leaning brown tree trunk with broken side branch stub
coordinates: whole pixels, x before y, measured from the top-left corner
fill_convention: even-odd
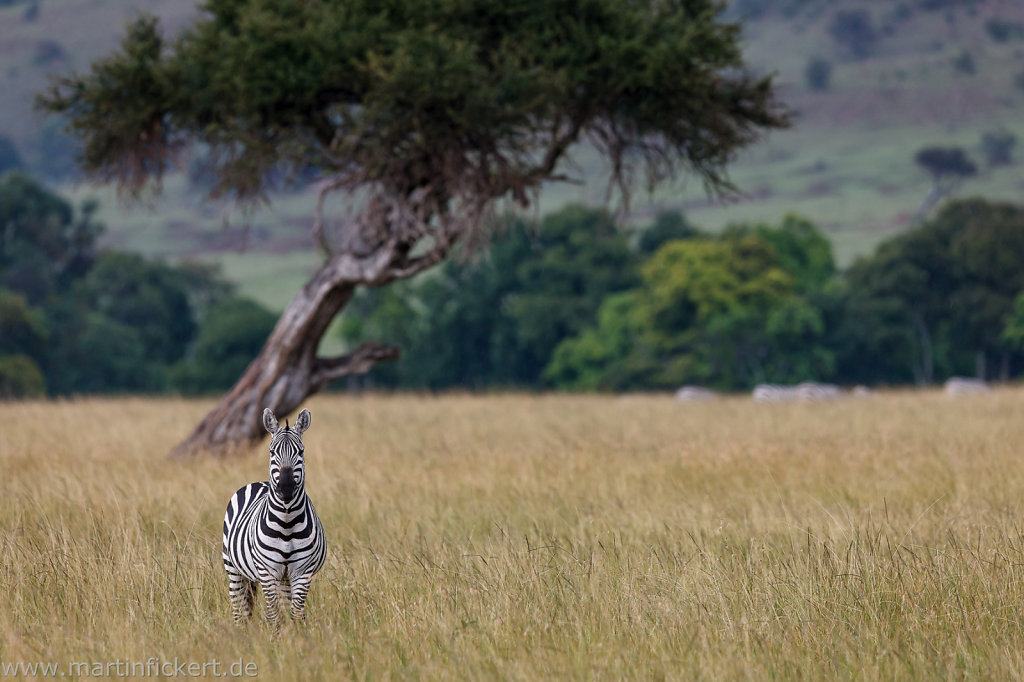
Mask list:
[[[409,260],[408,249],[388,243],[368,256],[331,257],[292,299],[263,350],[234,387],[173,451],[174,457],[227,452],[264,436],[265,408],[287,415],[335,379],[362,374],[377,361],[393,359],[398,349],[368,343],[346,355],[317,357],[316,349],[331,321],[351,300],[358,285],[379,286],[411,276],[440,262],[437,249]]]

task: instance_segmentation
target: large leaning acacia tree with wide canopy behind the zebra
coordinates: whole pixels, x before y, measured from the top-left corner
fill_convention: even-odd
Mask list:
[[[82,140],[81,165],[130,196],[201,143],[214,196],[265,197],[318,169],[324,264],[256,360],[178,453],[261,437],[334,379],[391,358],[368,343],[318,357],[358,286],[409,278],[471,245],[496,202],[527,205],[596,147],[627,199],[681,172],[730,189],[737,150],[786,125],[715,0],[206,0],[166,39],[153,17],[39,98]],[[355,207],[336,232],[324,199]]]

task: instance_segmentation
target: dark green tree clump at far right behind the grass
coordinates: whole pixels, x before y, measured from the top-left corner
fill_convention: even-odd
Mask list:
[[[848,273],[840,373],[931,382],[1008,358],[1002,336],[1024,291],[1021,259],[1024,209],[982,200],[953,202],[883,244]]]

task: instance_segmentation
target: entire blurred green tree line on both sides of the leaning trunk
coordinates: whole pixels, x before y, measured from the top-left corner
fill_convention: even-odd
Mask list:
[[[275,315],[216,270],[97,247],[76,210],[0,178],[0,393],[224,390]],[[1024,210],[947,204],[846,270],[809,221],[710,235],[677,212],[503,219],[489,248],[362,289],[346,343],[402,349],[379,388],[744,390],[769,381],[930,383],[1024,371]],[[355,380],[350,379],[354,382]]]

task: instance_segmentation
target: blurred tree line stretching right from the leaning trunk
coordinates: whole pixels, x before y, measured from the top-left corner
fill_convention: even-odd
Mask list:
[[[482,255],[346,312],[350,344],[402,348],[393,388],[670,389],[925,384],[1024,370],[1024,210],[950,203],[840,271],[809,221],[627,231],[600,209],[513,218]]]

